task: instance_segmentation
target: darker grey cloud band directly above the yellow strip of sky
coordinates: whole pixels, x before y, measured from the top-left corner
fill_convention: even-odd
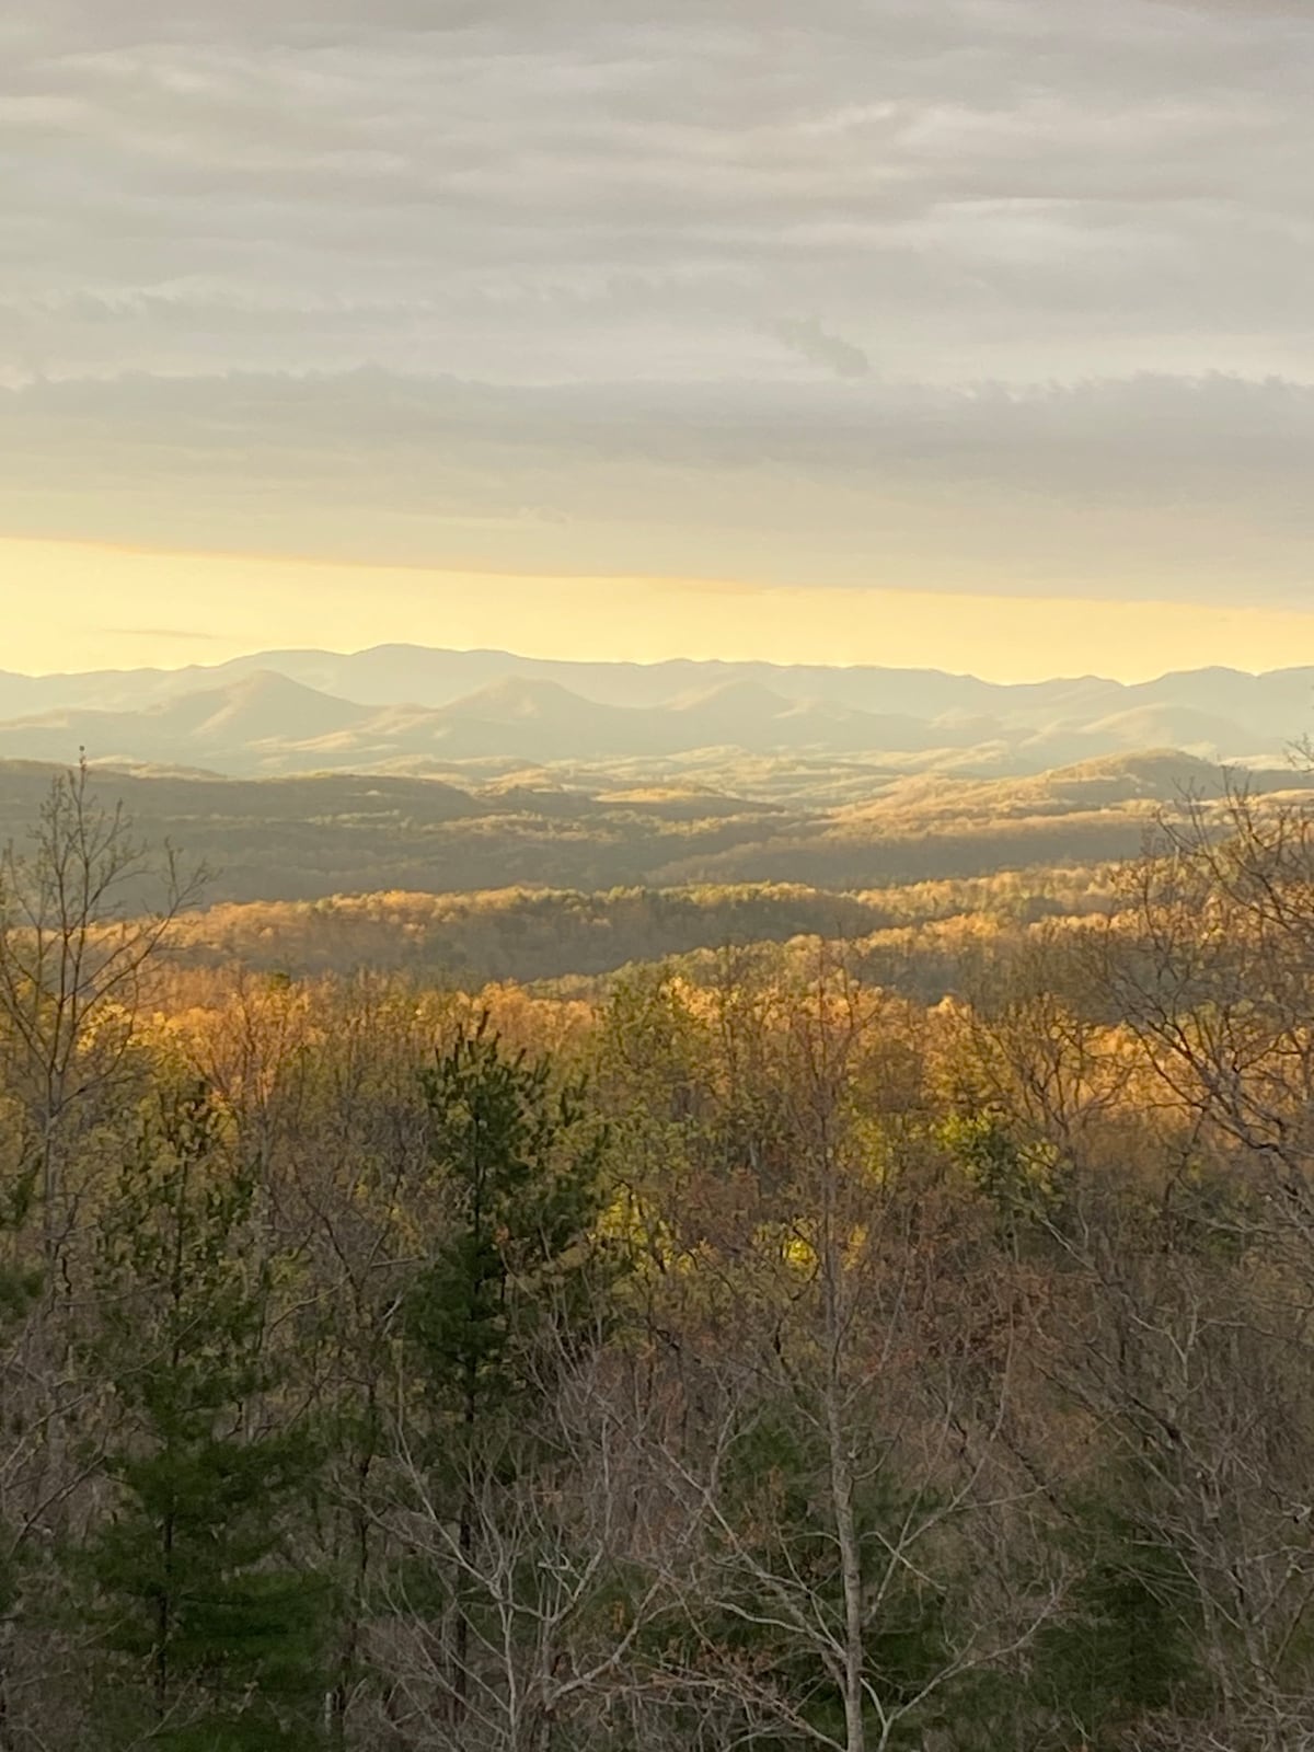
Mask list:
[[[0,394],[0,526],[506,571],[1305,606],[1314,387],[135,375]]]

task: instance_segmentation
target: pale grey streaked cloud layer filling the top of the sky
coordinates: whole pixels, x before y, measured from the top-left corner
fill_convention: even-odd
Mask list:
[[[286,342],[263,349],[251,307],[298,303],[296,363],[503,378],[788,370],[752,338],[781,308],[936,375],[1305,357],[1309,21],[440,11],[117,0],[11,25],[11,371],[258,366]],[[133,296],[172,301],[163,333]]]

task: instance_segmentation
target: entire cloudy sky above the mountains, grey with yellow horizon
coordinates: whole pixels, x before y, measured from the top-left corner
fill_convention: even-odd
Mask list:
[[[0,664],[1314,662],[1305,0],[0,12]]]

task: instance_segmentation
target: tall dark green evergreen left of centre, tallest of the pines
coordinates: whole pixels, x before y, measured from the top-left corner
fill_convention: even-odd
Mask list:
[[[443,1624],[438,1743],[464,1747],[475,1743],[464,1727],[471,1689],[505,1682],[477,1671],[489,1647],[478,1622],[487,1593],[471,1584],[489,1491],[510,1503],[526,1468],[550,1468],[534,1412],[596,1333],[615,1258],[596,1233],[604,1134],[578,1086],[554,1086],[550,1060],[508,1051],[485,1014],[440,1053],[424,1091],[445,1223],[406,1314],[426,1512],[452,1537],[443,1573],[429,1545],[405,1594]],[[533,1572],[531,1559],[529,1587]]]

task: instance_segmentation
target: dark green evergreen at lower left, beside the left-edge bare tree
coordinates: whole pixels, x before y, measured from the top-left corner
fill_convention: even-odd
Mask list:
[[[317,1458],[272,1423],[252,1202],[198,1088],[161,1100],[103,1212],[91,1351],[114,1402],[116,1507],[84,1561],[107,1745],[319,1743],[326,1586],[289,1538]]]

